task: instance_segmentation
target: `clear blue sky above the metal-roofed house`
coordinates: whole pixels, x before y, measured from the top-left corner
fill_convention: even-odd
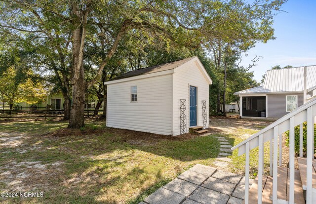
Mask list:
[[[316,0],[289,0],[282,10],[286,12],[279,13],[273,24],[276,40],[257,43],[240,63],[247,67],[255,55],[262,56],[250,69],[258,82],[276,65],[316,65]]]

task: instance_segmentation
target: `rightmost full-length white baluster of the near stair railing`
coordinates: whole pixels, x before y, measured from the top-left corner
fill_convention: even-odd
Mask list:
[[[313,159],[314,159],[314,120],[313,106],[307,109],[307,145],[306,145],[306,204],[313,202]]]

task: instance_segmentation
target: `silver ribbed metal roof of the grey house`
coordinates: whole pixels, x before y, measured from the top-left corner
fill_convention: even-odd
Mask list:
[[[307,89],[316,88],[316,65],[307,67]],[[234,94],[299,92],[304,90],[304,67],[268,70],[263,85]]]

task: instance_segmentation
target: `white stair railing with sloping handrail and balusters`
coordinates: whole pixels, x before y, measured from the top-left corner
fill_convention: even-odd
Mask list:
[[[303,157],[303,122],[307,122],[307,185],[306,204],[312,204],[312,169],[314,159],[314,117],[316,116],[316,98],[273,122],[261,131],[239,143],[238,155],[246,154],[245,186],[249,186],[249,153],[259,147],[258,165],[258,204],[262,204],[262,175],[264,169],[264,144],[270,141],[270,175],[273,176],[273,203],[277,204],[277,166],[282,165],[282,134],[289,130],[289,204],[294,204],[294,128],[300,125],[300,157]],[[278,157],[279,156],[279,157]],[[315,197],[316,195],[314,195]],[[314,198],[315,199],[315,198]],[[249,203],[249,188],[245,188],[245,204]]]

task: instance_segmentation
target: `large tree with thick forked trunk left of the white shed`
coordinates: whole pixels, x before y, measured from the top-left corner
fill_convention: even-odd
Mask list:
[[[283,0],[1,0],[0,27],[8,33],[31,34],[50,39],[52,44],[71,43],[69,66],[72,106],[68,127],[84,125],[85,90],[98,82],[103,69],[115,55],[119,42],[135,30],[148,42],[198,47],[220,39],[231,43],[267,41],[273,37],[274,10]],[[65,29],[59,29],[60,27]],[[98,27],[98,29],[95,29]],[[105,57],[95,67],[95,76],[85,77],[84,56],[87,35],[105,41]],[[69,40],[66,36],[69,35]],[[60,39],[60,36],[63,36]],[[59,39],[59,40],[57,40]],[[32,41],[32,38],[30,39]],[[99,42],[98,42],[99,43]],[[137,45],[136,45],[137,46]],[[168,45],[167,45],[168,46]],[[57,48],[55,48],[57,49]],[[61,48],[63,49],[63,48]],[[58,52],[58,50],[57,50]],[[58,52],[59,53],[59,52]]]

